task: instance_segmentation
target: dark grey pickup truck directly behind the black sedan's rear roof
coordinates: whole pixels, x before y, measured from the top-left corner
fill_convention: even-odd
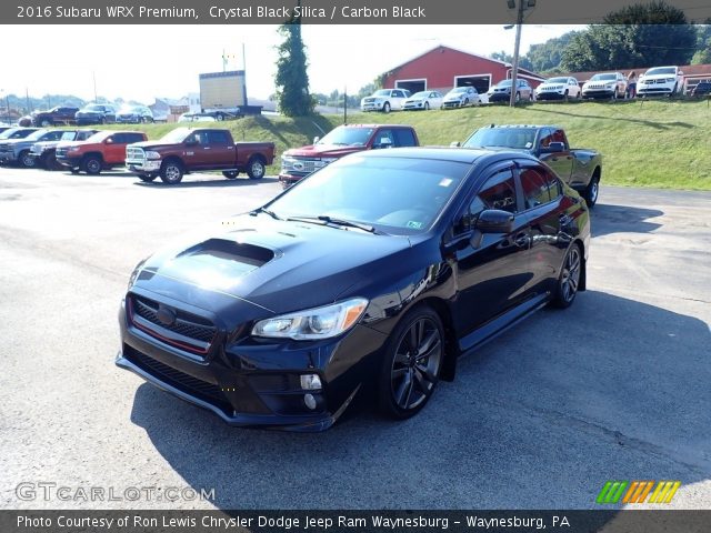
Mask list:
[[[490,125],[477,130],[462,148],[521,150],[548,164],[592,208],[598,201],[602,155],[594,150],[571,149],[557,125]]]

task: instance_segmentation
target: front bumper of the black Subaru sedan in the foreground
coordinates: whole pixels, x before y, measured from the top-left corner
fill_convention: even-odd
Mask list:
[[[119,312],[116,364],[236,426],[330,428],[361,390],[362,379],[373,375],[364,369],[387,339],[363,325],[318,342],[251,336],[230,342],[221,332],[201,358],[137,328],[130,305],[124,300]],[[318,374],[321,388],[301,389],[303,374]]]

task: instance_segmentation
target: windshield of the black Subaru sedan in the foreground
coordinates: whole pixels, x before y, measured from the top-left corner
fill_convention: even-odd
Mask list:
[[[277,217],[330,217],[391,234],[427,231],[467,175],[454,161],[349,155],[268,204]]]

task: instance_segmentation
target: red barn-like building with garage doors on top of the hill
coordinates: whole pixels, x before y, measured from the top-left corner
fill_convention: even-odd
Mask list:
[[[453,87],[472,86],[482,93],[499,81],[511,78],[511,70],[510,63],[438,46],[385,72],[382,87],[411,92],[427,89],[447,92]],[[519,69],[519,77],[533,88],[544,80],[524,69]]]

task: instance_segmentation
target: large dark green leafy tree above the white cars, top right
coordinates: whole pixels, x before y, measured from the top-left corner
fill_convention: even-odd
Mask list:
[[[623,8],[574,34],[561,68],[612,70],[641,66],[687,64],[697,50],[697,30],[683,11],[664,2]]]

